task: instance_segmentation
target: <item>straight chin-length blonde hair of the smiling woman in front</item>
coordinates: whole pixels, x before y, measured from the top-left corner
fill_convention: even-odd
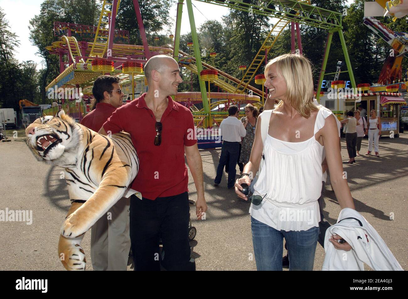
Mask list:
[[[278,56],[266,64],[265,78],[268,78],[268,70],[272,64],[276,66],[277,75],[286,81],[285,97],[288,104],[303,117],[310,117],[312,111],[318,110],[313,104],[313,76],[310,61],[298,54]],[[280,100],[275,108],[282,105],[283,101]]]

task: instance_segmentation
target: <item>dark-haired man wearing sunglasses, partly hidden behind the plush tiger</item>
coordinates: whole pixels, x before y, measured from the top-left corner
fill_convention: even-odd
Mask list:
[[[119,77],[103,75],[93,82],[95,101],[81,124],[98,132],[104,122],[122,106],[124,94]],[[129,202],[122,197],[91,228],[91,261],[93,270],[126,271],[130,250]],[[107,216],[109,215],[109,217]]]

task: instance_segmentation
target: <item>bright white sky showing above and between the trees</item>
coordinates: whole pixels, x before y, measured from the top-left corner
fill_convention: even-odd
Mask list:
[[[42,58],[36,54],[37,47],[29,41],[29,20],[40,13],[40,5],[43,0],[0,0],[0,7],[6,14],[11,31],[16,33],[20,40],[15,57],[20,61],[33,60],[38,64],[37,69],[42,67]],[[347,1],[348,3],[353,1]],[[193,1],[193,12],[196,27],[207,20],[222,20],[222,16],[228,14],[228,9],[204,2]],[[175,31],[175,19],[177,13],[177,4],[170,10],[170,16],[174,20],[172,31]],[[181,34],[190,32],[190,23],[188,22],[187,7],[184,1]],[[174,33],[173,33],[174,34]]]

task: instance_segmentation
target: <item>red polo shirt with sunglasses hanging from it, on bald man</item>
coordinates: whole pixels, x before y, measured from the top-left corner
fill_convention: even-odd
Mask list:
[[[103,128],[106,133],[125,131],[131,135],[140,162],[131,188],[142,193],[142,197],[155,200],[188,191],[184,146],[193,146],[197,138],[191,111],[168,97],[169,104],[160,120],[162,143],[155,146],[156,118],[146,106],[145,95],[116,109]]]

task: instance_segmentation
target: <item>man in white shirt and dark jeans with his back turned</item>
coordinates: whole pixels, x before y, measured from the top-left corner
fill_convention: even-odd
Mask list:
[[[246,135],[244,124],[238,120],[238,114],[238,107],[231,105],[228,109],[228,117],[220,124],[218,135],[222,136],[223,142],[214,186],[218,186],[221,183],[222,171],[227,161],[229,161],[227,186],[228,189],[234,188],[235,175],[237,174],[236,166],[239,154],[239,142],[241,142],[241,137],[245,137]]]

